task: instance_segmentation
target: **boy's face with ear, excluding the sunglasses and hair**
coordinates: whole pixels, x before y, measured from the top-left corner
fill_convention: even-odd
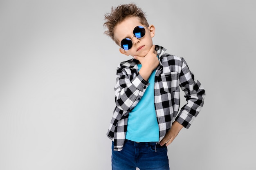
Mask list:
[[[132,37],[132,47],[129,50],[119,49],[119,51],[124,55],[134,55],[145,57],[153,45],[152,38],[155,35],[155,27],[150,25],[149,27],[145,27],[146,33],[145,35],[138,39],[133,36],[133,29],[136,26],[148,26],[140,23],[137,17],[127,18],[123,22],[117,24],[115,27],[114,38],[117,40],[120,46],[121,40],[124,38]]]

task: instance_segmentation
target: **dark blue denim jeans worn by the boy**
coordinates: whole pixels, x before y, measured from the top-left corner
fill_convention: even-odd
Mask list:
[[[123,150],[114,151],[113,144],[112,170],[170,170],[166,146],[125,140]]]

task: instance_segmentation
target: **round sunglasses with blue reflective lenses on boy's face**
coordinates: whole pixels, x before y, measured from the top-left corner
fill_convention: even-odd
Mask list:
[[[148,27],[148,26],[136,26],[134,29],[133,29],[133,36],[131,38],[124,38],[123,40],[121,40],[121,48],[124,49],[124,50],[130,50],[132,48],[132,38],[135,37],[135,38],[142,38],[144,37],[145,33],[146,33],[146,30],[145,30],[145,27]]]

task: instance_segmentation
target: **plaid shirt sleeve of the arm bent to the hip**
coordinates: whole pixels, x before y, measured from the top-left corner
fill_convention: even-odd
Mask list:
[[[205,89],[201,83],[195,79],[189,70],[186,61],[182,58],[182,69],[179,76],[180,87],[184,91],[187,103],[181,108],[175,121],[189,128],[195,117],[198,115],[204,104]]]

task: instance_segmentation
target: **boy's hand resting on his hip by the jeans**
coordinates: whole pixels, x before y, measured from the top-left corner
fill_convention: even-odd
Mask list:
[[[181,124],[179,124],[177,121],[174,121],[171,129],[166,133],[166,135],[159,144],[161,146],[163,146],[164,144],[166,144],[166,146],[171,144],[182,128],[183,126]]]

